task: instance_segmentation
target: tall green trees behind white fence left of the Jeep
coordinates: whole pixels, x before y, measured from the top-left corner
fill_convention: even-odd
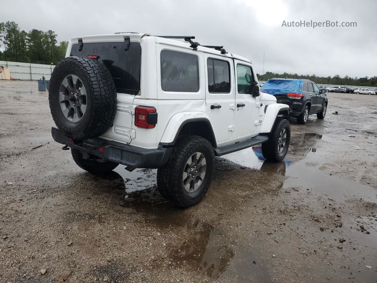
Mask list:
[[[32,29],[29,32],[20,29],[15,22],[0,22],[0,60],[56,64],[65,57],[67,41],[57,45],[54,31]]]

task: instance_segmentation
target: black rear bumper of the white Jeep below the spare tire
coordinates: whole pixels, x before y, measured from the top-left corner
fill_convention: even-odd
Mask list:
[[[67,145],[70,148],[135,168],[159,168],[164,166],[173,151],[173,148],[139,148],[102,138],[91,138],[88,140],[71,139],[69,142],[68,137],[55,127],[51,128],[51,135],[56,142]],[[98,151],[100,146],[103,147],[103,152]]]

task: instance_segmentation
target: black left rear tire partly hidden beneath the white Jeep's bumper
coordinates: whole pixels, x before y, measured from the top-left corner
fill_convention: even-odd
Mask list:
[[[119,164],[102,159],[84,159],[83,153],[78,149],[71,148],[72,158],[76,164],[93,175],[106,174],[113,171]]]

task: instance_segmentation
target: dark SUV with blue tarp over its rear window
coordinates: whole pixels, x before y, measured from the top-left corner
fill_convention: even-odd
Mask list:
[[[297,118],[302,125],[310,114],[317,114],[319,119],[325,118],[328,103],[325,89],[320,91],[316,83],[310,80],[272,78],[262,86],[261,91],[274,95],[277,103],[289,105],[290,116]]]

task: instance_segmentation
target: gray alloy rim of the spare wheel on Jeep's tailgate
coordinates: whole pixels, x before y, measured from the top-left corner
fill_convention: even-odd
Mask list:
[[[86,90],[80,78],[67,75],[60,85],[60,107],[64,117],[70,122],[78,122],[86,110]]]

